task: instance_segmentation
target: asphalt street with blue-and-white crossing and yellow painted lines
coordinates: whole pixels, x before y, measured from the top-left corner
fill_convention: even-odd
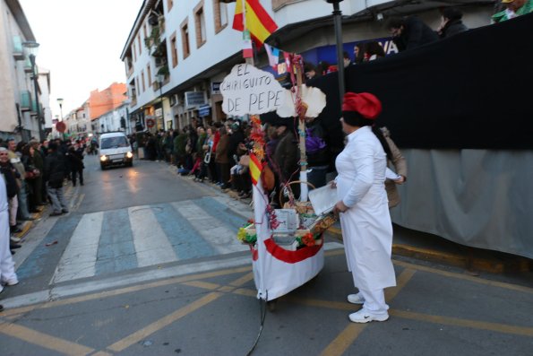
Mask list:
[[[327,236],[322,272],[262,314],[236,239],[249,204],[163,162],[85,165],[85,185],[65,187],[71,213],[44,213],[13,256],[2,355],[533,354],[531,273],[393,256],[390,320],[358,325],[342,243]]]

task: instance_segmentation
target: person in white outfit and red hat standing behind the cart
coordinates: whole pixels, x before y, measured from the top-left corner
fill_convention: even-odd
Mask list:
[[[348,143],[335,161],[339,175],[335,178],[337,198],[335,211],[340,213],[340,226],[357,294],[348,301],[362,304],[349,315],[355,323],[385,321],[389,306],[384,288],[396,285],[391,262],[392,224],[385,191],[386,152],[391,152],[374,119],[382,104],[373,94],[348,92],[342,103],[343,131]]]

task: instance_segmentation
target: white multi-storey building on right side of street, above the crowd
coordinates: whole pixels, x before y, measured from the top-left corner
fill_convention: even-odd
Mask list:
[[[262,0],[279,29],[267,42],[305,61],[336,64],[333,6],[325,0]],[[387,53],[395,53],[383,23],[391,15],[416,13],[436,29],[443,2],[340,1],[344,50],[353,56],[360,41],[379,39]],[[492,0],[457,0],[470,28],[489,24]],[[232,29],[236,3],[230,0],[146,0],[122,51],[130,113],[136,126],[151,129],[183,127],[192,117],[204,121],[226,118],[221,110],[219,83],[231,67],[242,63],[242,33]],[[353,59],[353,57],[352,57]],[[264,48],[255,66],[272,72]],[[286,76],[279,65],[278,78]],[[282,79],[282,78],[281,78]],[[153,122],[150,120],[150,122]]]

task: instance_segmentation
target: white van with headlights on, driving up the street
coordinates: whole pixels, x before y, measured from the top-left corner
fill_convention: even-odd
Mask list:
[[[100,167],[133,166],[133,151],[127,136],[121,132],[100,135],[99,140]]]

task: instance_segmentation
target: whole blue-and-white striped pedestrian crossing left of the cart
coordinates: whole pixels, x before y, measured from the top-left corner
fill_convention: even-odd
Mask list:
[[[228,205],[228,198],[208,196],[70,214],[56,221],[45,243],[28,256],[17,274],[22,279],[51,274],[49,281],[54,284],[246,251],[236,232],[250,213]],[[53,255],[47,250],[51,243],[63,251]],[[39,259],[54,258],[55,268],[39,265]]]

